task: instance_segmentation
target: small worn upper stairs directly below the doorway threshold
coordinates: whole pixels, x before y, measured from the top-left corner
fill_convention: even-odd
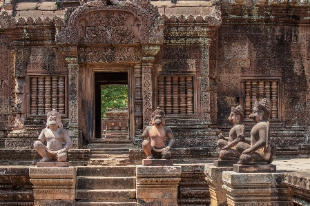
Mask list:
[[[88,165],[130,165],[128,148],[94,148],[90,149]]]

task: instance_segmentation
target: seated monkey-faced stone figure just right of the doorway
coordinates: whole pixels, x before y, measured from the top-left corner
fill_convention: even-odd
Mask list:
[[[142,137],[149,138],[144,140],[142,148],[147,158],[171,158],[171,147],[175,144],[175,138],[170,127],[164,126],[165,113],[159,107],[152,113],[151,125],[144,130]],[[165,147],[165,139],[168,138],[168,146]]]

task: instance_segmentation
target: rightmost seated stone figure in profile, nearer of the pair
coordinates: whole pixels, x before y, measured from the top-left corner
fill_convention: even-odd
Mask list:
[[[238,162],[241,165],[265,165],[273,161],[275,145],[270,143],[269,114],[269,104],[266,98],[260,102],[255,101],[253,112],[250,114],[250,118],[256,122],[251,130],[251,138],[244,138],[243,134],[238,136],[245,141],[238,143],[236,147],[241,154]]]

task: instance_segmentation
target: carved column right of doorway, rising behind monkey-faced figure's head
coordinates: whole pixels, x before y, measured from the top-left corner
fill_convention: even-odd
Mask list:
[[[159,52],[159,45],[142,46],[142,96],[143,96],[143,123],[148,125],[151,121],[153,107],[152,68],[154,57]]]

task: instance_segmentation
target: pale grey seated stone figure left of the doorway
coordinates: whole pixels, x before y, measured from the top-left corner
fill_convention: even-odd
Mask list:
[[[41,162],[48,161],[67,161],[67,152],[72,147],[70,136],[62,127],[60,114],[56,110],[52,110],[47,114],[46,128],[39,135],[39,141],[35,141],[35,150],[43,157]],[[62,141],[66,142],[62,148]],[[43,145],[46,141],[47,145]]]

